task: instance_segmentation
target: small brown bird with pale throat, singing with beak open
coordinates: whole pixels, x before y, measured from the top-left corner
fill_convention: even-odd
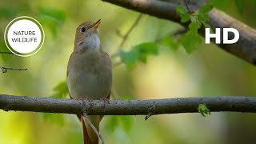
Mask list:
[[[108,54],[102,50],[98,26],[101,23],[83,22],[78,26],[74,51],[67,66],[67,86],[70,98],[106,99],[110,98],[112,87],[112,64]],[[82,115],[83,141],[85,144],[98,144],[98,136]],[[90,115],[90,121],[99,130],[100,115]]]

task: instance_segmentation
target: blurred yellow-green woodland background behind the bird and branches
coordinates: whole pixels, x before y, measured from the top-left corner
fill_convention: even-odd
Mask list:
[[[255,28],[254,0],[214,0],[214,6]],[[84,21],[102,19],[103,48],[115,54],[122,34],[139,13],[99,0],[2,0],[0,1],[0,51],[8,51],[3,40],[7,24],[22,15],[40,22],[46,33],[42,49],[21,58],[1,54],[0,66],[28,68],[0,74],[0,94],[31,97],[66,95],[66,65],[74,48],[76,27]],[[142,42],[168,38],[181,28],[177,23],[143,15],[123,50]],[[254,66],[217,46],[202,44],[192,54],[179,46],[157,43],[158,54],[133,69],[114,67],[116,99],[182,98],[208,96],[255,96]],[[113,63],[119,62],[118,58]],[[64,82],[64,83],[63,83]],[[53,90],[54,87],[55,91]],[[101,122],[107,144],[119,143],[254,143],[256,115],[242,113],[163,114],[144,116],[105,116]],[[75,115],[5,112],[0,110],[1,144],[82,143],[82,127]]]

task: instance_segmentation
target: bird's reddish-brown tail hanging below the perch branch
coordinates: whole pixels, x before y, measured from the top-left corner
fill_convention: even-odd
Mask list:
[[[90,122],[99,130],[99,122],[102,119],[99,115],[90,115]],[[82,122],[82,134],[83,134],[83,143],[84,144],[98,144],[98,135],[94,132],[91,126],[82,115],[78,115],[80,122]]]

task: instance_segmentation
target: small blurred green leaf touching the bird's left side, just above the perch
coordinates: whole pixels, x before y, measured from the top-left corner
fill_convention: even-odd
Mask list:
[[[66,81],[63,81],[59,82],[58,85],[54,87],[54,94],[52,94],[50,97],[65,98],[67,94],[69,94],[69,90],[67,88]]]

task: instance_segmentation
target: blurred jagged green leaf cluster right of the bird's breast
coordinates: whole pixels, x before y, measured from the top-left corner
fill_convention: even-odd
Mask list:
[[[134,68],[135,63],[147,62],[149,54],[158,54],[158,45],[154,42],[144,42],[131,48],[130,51],[121,51],[119,54],[122,62],[129,68]]]

